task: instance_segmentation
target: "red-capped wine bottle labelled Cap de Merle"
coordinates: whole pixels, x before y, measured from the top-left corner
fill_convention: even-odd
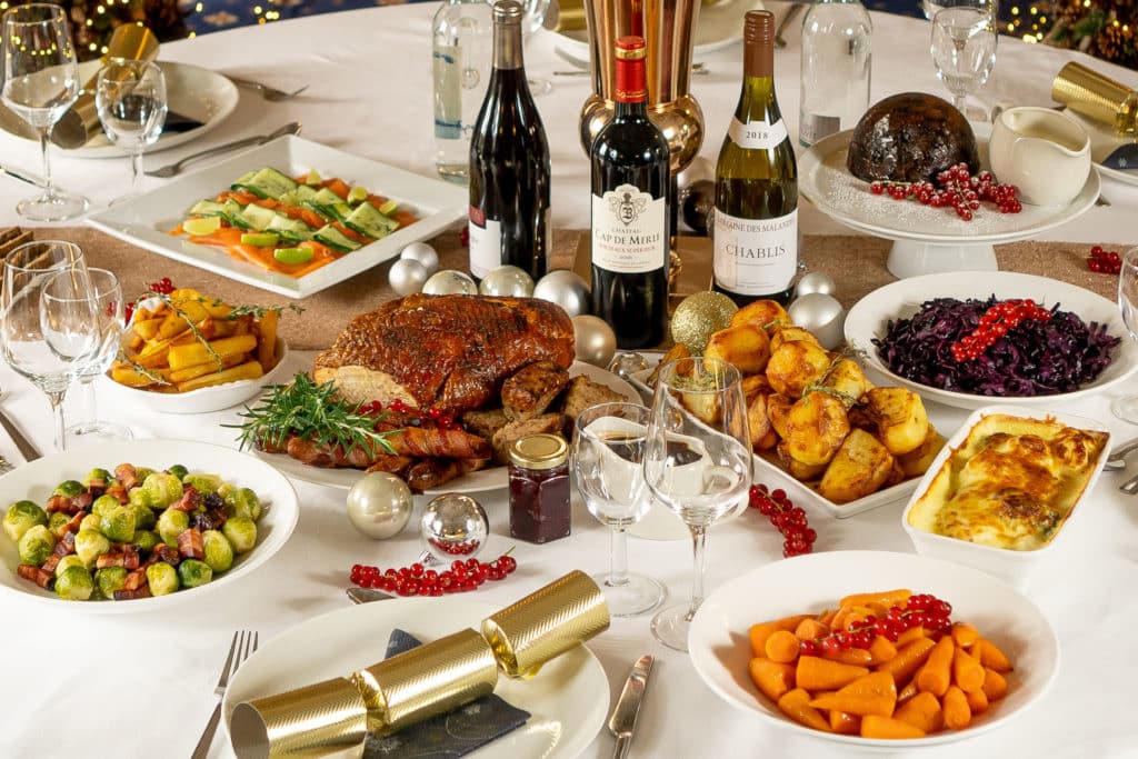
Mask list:
[[[617,40],[616,113],[592,150],[593,313],[620,348],[663,341],[671,176],[668,141],[648,117],[644,40]]]

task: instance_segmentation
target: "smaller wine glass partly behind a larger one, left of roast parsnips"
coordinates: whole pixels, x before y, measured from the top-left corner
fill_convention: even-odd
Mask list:
[[[133,435],[129,427],[99,419],[94,393],[94,380],[114,363],[123,337],[123,288],[114,272],[106,269],[88,269],[91,278],[91,297],[94,299],[96,320],[100,338],[91,361],[79,373],[83,389],[85,419],[67,428],[69,442],[80,443],[98,439],[130,440]]]

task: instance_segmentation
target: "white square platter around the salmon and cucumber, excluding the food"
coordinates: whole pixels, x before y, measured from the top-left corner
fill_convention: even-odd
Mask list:
[[[337,258],[304,277],[274,273],[220,248],[195,245],[170,234],[198,200],[214,198],[247,172],[272,166],[290,176],[315,168],[321,176],[338,176],[372,192],[410,206],[419,221]],[[198,266],[290,298],[304,298],[351,279],[399,255],[417,240],[427,240],[468,213],[467,189],[421,176],[295,135],[286,135],[231,156],[201,171],[170,180],[162,187],[91,214],[92,226],[159,255]]]

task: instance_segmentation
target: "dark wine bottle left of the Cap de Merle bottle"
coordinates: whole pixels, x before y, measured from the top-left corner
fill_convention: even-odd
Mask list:
[[[525,10],[494,6],[494,69],[470,141],[470,273],[512,264],[545,274],[550,147],[521,59]]]

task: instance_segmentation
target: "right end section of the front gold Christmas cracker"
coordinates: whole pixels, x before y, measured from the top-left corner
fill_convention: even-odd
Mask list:
[[[510,677],[529,678],[550,659],[609,628],[609,607],[588,575],[574,570],[483,620],[483,637]]]

